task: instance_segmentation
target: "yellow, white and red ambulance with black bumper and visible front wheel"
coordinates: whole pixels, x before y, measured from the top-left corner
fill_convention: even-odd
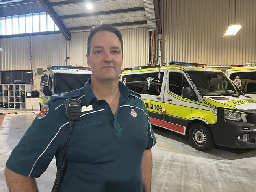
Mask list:
[[[125,71],[121,82],[141,95],[151,124],[185,135],[197,150],[256,147],[256,100],[220,70],[174,61]]]

